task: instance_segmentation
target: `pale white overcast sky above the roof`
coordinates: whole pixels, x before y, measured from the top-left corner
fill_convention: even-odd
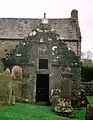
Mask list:
[[[93,52],[93,0],[0,0],[0,18],[69,18],[78,10],[82,51]]]

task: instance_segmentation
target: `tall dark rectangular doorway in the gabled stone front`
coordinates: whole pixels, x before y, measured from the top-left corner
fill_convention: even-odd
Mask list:
[[[37,74],[36,102],[49,103],[49,74]]]

